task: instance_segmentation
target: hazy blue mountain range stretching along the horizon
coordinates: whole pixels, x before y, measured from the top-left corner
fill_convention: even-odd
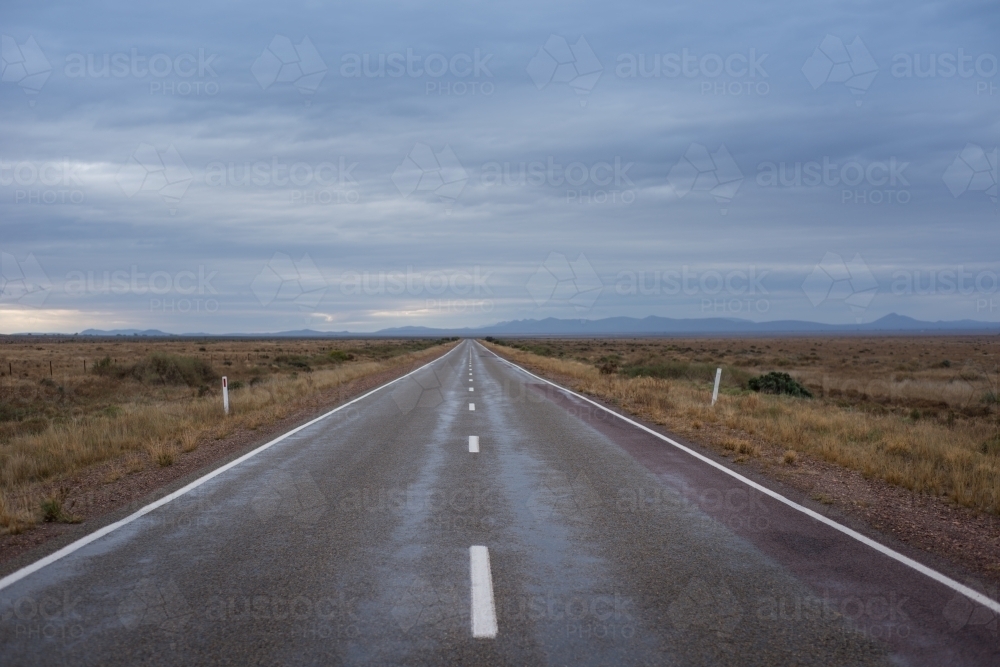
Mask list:
[[[892,313],[864,324],[823,324],[804,320],[774,320],[751,322],[738,318],[709,317],[674,319],[649,316],[608,317],[600,320],[564,320],[549,317],[544,320],[514,320],[484,327],[437,329],[431,327],[394,327],[373,333],[350,331],[315,331],[299,329],[276,333],[231,333],[219,337],[274,338],[345,338],[352,336],[426,337],[426,336],[671,336],[680,334],[823,334],[823,333],[930,333],[974,332],[1000,333],[1000,322],[952,320],[925,322]],[[87,329],[81,336],[146,336],[146,337],[210,337],[216,334],[170,334],[159,329]]]

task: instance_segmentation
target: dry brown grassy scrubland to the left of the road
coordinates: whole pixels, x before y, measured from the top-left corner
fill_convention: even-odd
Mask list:
[[[449,342],[0,337],[0,533],[74,521],[52,489],[91,466],[110,484],[173,465]]]

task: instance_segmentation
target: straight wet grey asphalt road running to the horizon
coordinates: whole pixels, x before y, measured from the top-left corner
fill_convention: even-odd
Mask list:
[[[997,633],[471,341],[0,590],[0,665],[997,665]]]

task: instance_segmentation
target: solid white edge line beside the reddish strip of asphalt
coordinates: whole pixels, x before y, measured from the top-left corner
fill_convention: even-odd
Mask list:
[[[833,519],[825,517],[825,516],[823,516],[822,514],[820,514],[818,512],[814,512],[813,510],[809,509],[808,507],[804,507],[802,505],[799,505],[798,503],[796,503],[796,502],[794,502],[792,500],[789,500],[788,498],[786,498],[785,496],[781,495],[780,493],[778,493],[776,491],[772,491],[771,489],[767,488],[766,486],[761,486],[757,482],[754,482],[753,480],[744,477],[743,475],[739,474],[738,472],[735,472],[734,470],[730,470],[726,466],[724,466],[724,465],[722,465],[720,463],[717,463],[716,461],[713,461],[712,459],[708,458],[707,456],[703,456],[703,455],[699,454],[698,452],[692,450],[691,448],[685,447],[684,445],[682,445],[681,443],[677,442],[676,440],[672,440],[672,439],[668,438],[667,436],[663,435],[662,433],[658,433],[658,432],[654,431],[653,429],[651,429],[651,428],[649,428],[647,426],[644,426],[643,424],[640,424],[637,421],[629,419],[628,417],[626,417],[624,415],[621,415],[621,414],[615,412],[614,410],[610,410],[610,409],[606,408],[605,406],[601,405],[600,403],[587,398],[586,396],[582,396],[582,395],[576,393],[575,391],[572,391],[570,389],[567,389],[566,387],[563,387],[561,385],[556,384],[555,382],[552,382],[550,380],[546,380],[543,377],[539,377],[538,375],[535,375],[531,371],[528,371],[528,370],[525,370],[524,368],[521,368],[520,366],[518,366],[514,362],[508,361],[507,359],[504,359],[503,357],[501,357],[500,355],[498,355],[496,352],[493,352],[492,350],[487,350],[487,352],[489,352],[490,354],[492,354],[493,356],[495,356],[497,359],[499,359],[503,363],[508,364],[509,366],[512,366],[512,367],[514,367],[514,368],[516,368],[516,369],[518,369],[518,370],[520,370],[520,371],[522,371],[522,372],[530,375],[531,377],[533,377],[533,378],[535,378],[537,380],[541,380],[542,382],[544,382],[546,384],[550,384],[553,387],[555,387],[556,389],[564,391],[567,394],[571,394],[572,396],[576,396],[577,398],[579,398],[581,400],[584,400],[584,401],[590,403],[591,405],[594,405],[594,406],[596,406],[596,407],[604,410],[605,412],[613,414],[614,416],[618,417],[619,419],[621,419],[621,420],[623,420],[625,422],[628,422],[632,426],[635,426],[636,428],[639,428],[639,429],[641,429],[641,430],[649,433],[650,435],[653,435],[653,436],[659,438],[660,440],[663,440],[665,442],[670,443],[674,447],[680,449],[683,452],[686,452],[686,453],[690,454],[691,456],[695,457],[696,459],[698,459],[700,461],[703,461],[703,462],[707,463],[708,465],[712,466],[713,468],[717,468],[718,470],[721,470],[722,472],[726,473],[730,477],[734,477],[734,478],[738,479],[739,481],[743,482],[747,486],[750,486],[751,488],[757,489],[761,493],[767,494],[767,495],[771,496],[772,498],[774,498],[775,500],[788,505],[792,509],[798,510],[799,512],[802,512],[806,516],[812,517],[813,519],[815,519],[815,520],[817,520],[817,521],[819,521],[821,523],[825,523],[826,525],[830,526],[831,528],[839,530],[841,533],[847,535],[848,537],[854,538],[858,542],[861,542],[862,544],[871,547],[872,549],[874,549],[874,550],[882,553],[883,555],[888,556],[889,558],[892,558],[893,560],[896,560],[896,561],[902,563],[903,565],[906,565],[907,567],[910,567],[910,568],[916,570],[917,572],[919,572],[919,573],[921,573],[921,574],[923,574],[923,575],[925,575],[927,577],[930,577],[931,579],[933,579],[934,581],[938,582],[939,584],[943,584],[944,586],[947,586],[948,588],[952,589],[953,591],[956,591],[957,593],[961,593],[962,595],[964,595],[965,597],[969,598],[970,600],[973,600],[974,602],[978,602],[979,604],[983,605],[984,607],[988,607],[989,609],[992,609],[995,613],[1000,614],[1000,602],[997,602],[996,600],[993,600],[992,598],[989,598],[989,597],[983,595],[979,591],[973,590],[973,589],[969,588],[968,586],[966,586],[964,584],[960,584],[959,582],[955,581],[951,577],[949,577],[947,575],[944,575],[944,574],[941,574],[937,570],[929,568],[926,565],[923,565],[922,563],[918,563],[917,561],[913,560],[912,558],[910,558],[908,556],[904,556],[903,554],[899,553],[898,551],[896,551],[894,549],[890,549],[889,547],[885,546],[884,544],[881,544],[880,542],[876,542],[875,540],[862,535],[861,533],[857,532],[856,530],[852,530],[852,529],[848,528],[847,526],[839,524],[836,521],[834,521]]]

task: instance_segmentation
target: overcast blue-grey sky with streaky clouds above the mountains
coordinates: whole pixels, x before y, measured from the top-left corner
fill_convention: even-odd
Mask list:
[[[0,332],[1000,321],[1000,8],[5,3]]]

